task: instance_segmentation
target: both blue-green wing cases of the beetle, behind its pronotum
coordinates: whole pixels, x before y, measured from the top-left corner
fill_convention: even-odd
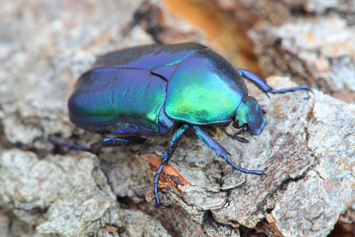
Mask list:
[[[156,44],[99,56],[75,85],[68,101],[70,120],[77,127],[99,133],[166,132],[160,131],[159,113],[165,101],[167,80],[175,70],[173,64],[201,48],[206,46]]]

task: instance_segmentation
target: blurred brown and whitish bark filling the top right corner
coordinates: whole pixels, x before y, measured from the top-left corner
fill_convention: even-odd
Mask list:
[[[355,1],[217,0],[249,30],[265,75],[355,102]]]

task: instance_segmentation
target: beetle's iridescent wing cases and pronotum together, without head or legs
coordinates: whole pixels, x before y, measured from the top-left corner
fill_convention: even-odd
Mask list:
[[[215,125],[234,120],[248,90],[236,68],[197,43],[139,46],[100,57],[84,73],[68,105],[78,127],[162,135],[166,120]],[[163,111],[162,111],[163,110]],[[133,129],[130,130],[132,133]],[[133,132],[134,134],[134,132]]]

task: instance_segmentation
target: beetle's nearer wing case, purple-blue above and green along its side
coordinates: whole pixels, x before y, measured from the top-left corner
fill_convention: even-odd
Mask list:
[[[166,82],[150,70],[97,68],[84,73],[68,107],[70,120],[85,130],[120,123],[158,133],[158,115],[165,101]],[[102,131],[99,131],[102,132]]]

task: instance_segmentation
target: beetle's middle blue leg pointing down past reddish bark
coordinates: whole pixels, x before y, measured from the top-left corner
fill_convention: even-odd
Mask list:
[[[158,181],[159,181],[159,176],[160,173],[162,172],[164,165],[169,162],[169,159],[173,156],[176,147],[178,147],[178,144],[182,138],[182,135],[186,132],[186,130],[189,128],[189,125],[182,125],[178,129],[178,131],[175,132],[173,135],[173,138],[169,142],[169,147],[168,149],[164,152],[163,156],[161,157],[161,164],[160,167],[157,169],[157,172],[155,173],[155,178],[154,178],[154,194],[155,194],[155,203],[157,206],[161,208],[165,208],[166,206],[161,206],[160,201],[159,201],[159,196],[158,196]]]

